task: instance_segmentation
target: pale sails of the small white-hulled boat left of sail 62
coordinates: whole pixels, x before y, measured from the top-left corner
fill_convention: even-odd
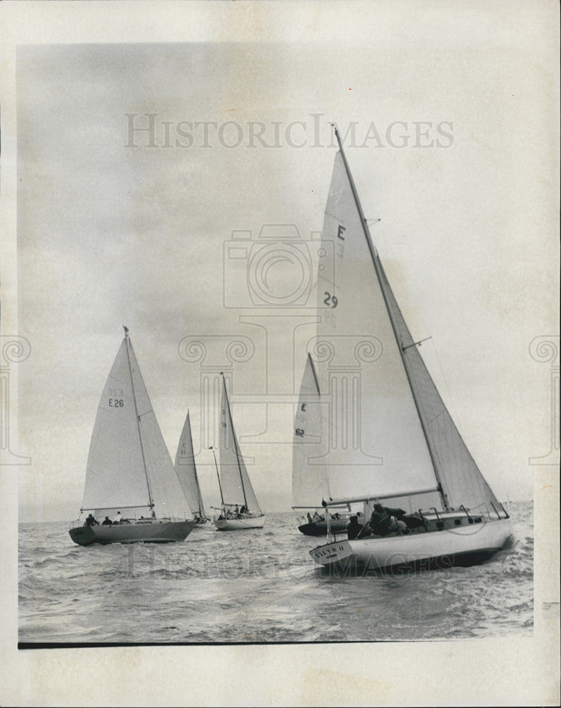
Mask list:
[[[236,431],[233,429],[224,377],[220,404],[220,479],[222,499],[226,505],[246,506],[250,513],[261,513],[248,472],[245,469]]]

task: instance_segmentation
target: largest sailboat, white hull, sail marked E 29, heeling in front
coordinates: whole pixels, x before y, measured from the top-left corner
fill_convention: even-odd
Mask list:
[[[335,136],[339,151],[322,241],[336,244],[337,278],[326,270],[318,273],[318,303],[323,307],[318,334],[334,349],[341,338],[357,332],[376,338],[382,354],[360,381],[366,414],[359,433],[364,433],[364,449],[379,457],[369,466],[351,461],[337,468],[339,486],[324,499],[325,508],[359,505],[364,520],[352,519],[343,539],[330,530],[328,542],[310,554],[323,566],[371,569],[482,561],[507,542],[509,514],[436,389],[419,352],[424,339],[415,341],[407,329],[336,128]],[[322,391],[335,391],[332,377],[328,364],[318,363]],[[330,433],[339,424],[336,406],[330,406]],[[329,440],[327,446],[330,455],[334,446]]]

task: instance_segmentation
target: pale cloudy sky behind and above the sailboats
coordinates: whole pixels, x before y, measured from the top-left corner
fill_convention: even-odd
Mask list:
[[[226,367],[260,505],[289,510],[315,276],[270,307],[247,268],[276,224],[279,244],[296,227],[314,273],[332,121],[473,457],[501,500],[532,497],[528,458],[550,450],[553,413],[550,367],[530,347],[558,331],[554,77],[504,28],[470,33],[458,16],[457,35],[420,50],[409,23],[385,33],[383,7],[356,42],[331,30],[18,47],[18,332],[31,348],[18,365],[21,521],[78,515],[123,324],[172,457],[190,410],[206,503],[219,497],[204,386]],[[270,292],[294,291],[293,266],[272,266]]]

